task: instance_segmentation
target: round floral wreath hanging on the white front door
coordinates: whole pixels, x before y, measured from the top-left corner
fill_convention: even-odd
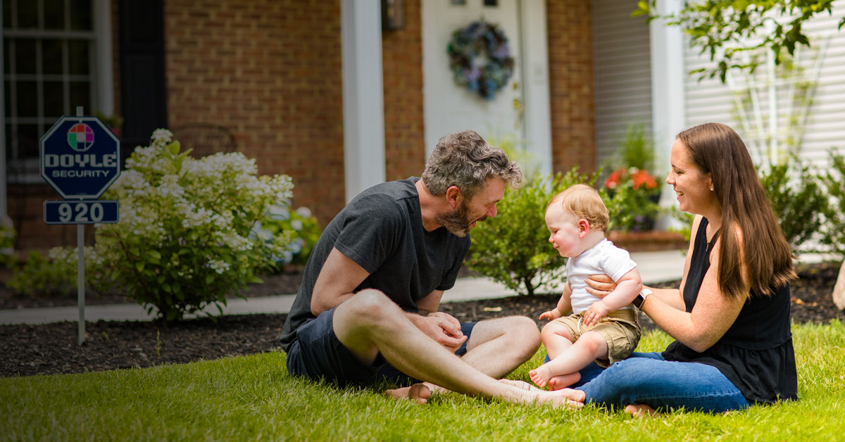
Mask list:
[[[486,100],[493,100],[496,92],[507,85],[514,74],[514,57],[510,56],[508,37],[499,26],[483,20],[455,30],[446,52],[455,84],[466,86]],[[489,61],[478,66],[474,60],[482,52],[487,52]]]

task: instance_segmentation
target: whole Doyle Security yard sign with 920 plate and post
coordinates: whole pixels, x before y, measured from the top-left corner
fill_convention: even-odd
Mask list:
[[[120,139],[97,117],[64,116],[41,137],[41,177],[64,200],[44,201],[44,222],[76,224],[79,345],[85,342],[85,224],[118,221],[115,200],[100,195],[120,175]]]

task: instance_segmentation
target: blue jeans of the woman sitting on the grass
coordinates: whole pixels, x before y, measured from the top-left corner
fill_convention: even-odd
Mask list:
[[[608,368],[591,363],[581,370],[574,388],[584,391],[586,403],[604,407],[645,404],[654,409],[684,407],[718,413],[750,405],[717,368],[667,361],[660,353],[635,352]]]

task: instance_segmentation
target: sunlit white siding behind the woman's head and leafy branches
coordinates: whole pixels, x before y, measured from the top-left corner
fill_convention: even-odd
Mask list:
[[[815,80],[815,95],[804,125],[804,133],[799,141],[799,156],[810,160],[818,166],[827,164],[827,150],[840,147],[845,151],[845,28],[837,30],[837,25],[845,17],[845,0],[837,0],[833,4],[833,14],[820,14],[820,17],[804,25],[804,30],[810,36],[812,48],[801,47],[799,65],[804,68],[804,77],[813,80],[813,58],[827,40],[826,51],[821,60],[819,77]],[[714,65],[706,54],[698,54],[698,49],[687,46],[684,52],[684,63],[688,70],[711,67]],[[766,66],[761,65],[755,76],[757,81],[765,81]],[[744,83],[741,75],[733,75],[738,83]],[[722,85],[719,79],[698,80],[698,74],[691,74],[686,79],[686,120],[688,126],[706,122],[725,123],[735,128],[749,145],[755,161],[765,162],[766,139],[760,139],[755,130],[750,132],[743,128],[737,115],[738,106],[735,105],[735,94],[727,85]],[[788,86],[778,85],[778,126],[787,126],[785,109],[788,108]],[[760,90],[760,107],[763,126],[769,128],[768,92],[766,88]],[[798,107],[793,107],[797,109]],[[755,145],[763,150],[760,152]]]

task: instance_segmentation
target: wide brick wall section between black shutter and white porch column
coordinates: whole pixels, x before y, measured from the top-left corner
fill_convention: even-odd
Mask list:
[[[345,203],[340,2],[167,0],[169,124],[229,128],[324,225]]]

